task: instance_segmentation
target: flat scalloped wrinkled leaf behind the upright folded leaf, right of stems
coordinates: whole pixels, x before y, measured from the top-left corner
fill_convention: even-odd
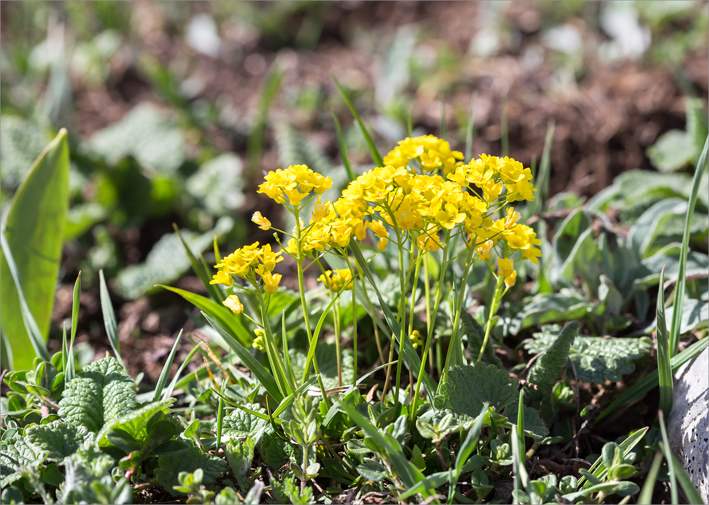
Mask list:
[[[525,343],[530,354],[545,352],[559,335],[559,325],[542,326],[542,331],[533,334],[534,339]],[[620,381],[626,373],[632,373],[634,359],[649,354],[652,341],[640,338],[604,338],[577,335],[569,349],[569,358],[574,362],[580,381],[603,384],[606,380]],[[570,372],[567,372],[570,373]]]

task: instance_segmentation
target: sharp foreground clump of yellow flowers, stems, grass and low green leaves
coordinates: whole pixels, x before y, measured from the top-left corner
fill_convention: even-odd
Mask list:
[[[103,274],[115,356],[77,363],[79,277],[61,352],[35,338],[33,368],[4,376],[2,503],[649,503],[658,479],[674,503],[680,487],[696,500],[662,410],[671,371],[707,344],[693,271],[706,255],[689,252],[706,236],[693,219],[706,144],[671,205],[625,207],[627,238],[603,214],[618,191],[547,202],[566,209],[551,243],[537,215],[548,149],[535,187],[522,163],[465,161],[431,135],[383,158],[369,144],[376,168],[359,176],[342,153],[344,187],[306,165],[265,175],[259,192],[293,224],[255,212],[274,243],[223,255],[215,238],[216,271],[185,245],[207,296],[164,287],[201,309],[209,342],[168,383],[181,333],[152,391],[136,394],[125,371]],[[15,272],[4,236],[3,250]],[[204,366],[183,375],[198,352]],[[603,396],[636,366],[649,373]],[[580,452],[594,425],[658,385],[655,424]]]

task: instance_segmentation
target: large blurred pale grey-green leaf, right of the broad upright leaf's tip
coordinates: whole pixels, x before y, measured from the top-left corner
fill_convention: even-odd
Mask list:
[[[115,124],[96,132],[89,151],[115,164],[133,156],[143,168],[172,174],[184,162],[184,137],[172,120],[142,103]]]

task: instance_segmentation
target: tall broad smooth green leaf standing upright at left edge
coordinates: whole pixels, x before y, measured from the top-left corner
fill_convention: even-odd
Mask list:
[[[23,294],[45,339],[52,315],[68,207],[69,144],[67,131],[62,129],[37,158],[17,190],[4,229]],[[18,291],[4,253],[0,253],[0,312],[2,329],[15,359],[13,366],[17,370],[30,368],[35,349],[28,337]]]

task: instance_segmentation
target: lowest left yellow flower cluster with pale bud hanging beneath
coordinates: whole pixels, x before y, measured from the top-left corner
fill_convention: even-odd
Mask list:
[[[272,251],[271,244],[266,244],[261,248],[259,248],[258,242],[245,245],[235,250],[230,255],[223,257],[220,262],[214,265],[219,271],[213,275],[209,284],[233,286],[234,279],[232,276],[242,277],[255,282],[256,274],[258,274],[264,283],[264,291],[273,294],[278,289],[281,274],[274,274],[272,272],[276,264],[281,261],[283,261],[281,251],[277,253]],[[236,295],[232,295],[223,301],[223,303],[238,314],[243,310],[243,306],[240,303],[235,305],[234,299],[236,302],[239,300]]]

